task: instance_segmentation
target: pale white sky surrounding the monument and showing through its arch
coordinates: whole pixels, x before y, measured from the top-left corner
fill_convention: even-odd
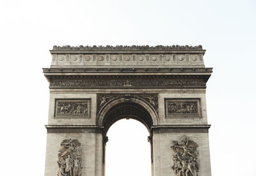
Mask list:
[[[256,175],[255,19],[254,0],[1,0],[1,175],[44,175],[49,89],[42,68],[53,45],[203,45],[205,66],[214,68],[207,83],[212,175]],[[150,175],[140,122],[116,122],[108,136],[107,176]],[[129,157],[141,158],[141,168]],[[118,163],[126,167],[115,173]]]

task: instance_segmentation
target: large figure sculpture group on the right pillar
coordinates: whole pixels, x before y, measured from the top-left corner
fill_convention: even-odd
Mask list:
[[[199,172],[197,143],[183,136],[180,141],[172,142],[173,165],[172,169],[176,176],[196,176]]]

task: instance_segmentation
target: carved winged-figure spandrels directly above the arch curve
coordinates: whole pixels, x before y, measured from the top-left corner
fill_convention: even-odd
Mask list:
[[[106,103],[117,98],[125,98],[127,101],[130,98],[142,99],[143,101],[147,101],[158,112],[158,94],[97,94],[98,112]]]

